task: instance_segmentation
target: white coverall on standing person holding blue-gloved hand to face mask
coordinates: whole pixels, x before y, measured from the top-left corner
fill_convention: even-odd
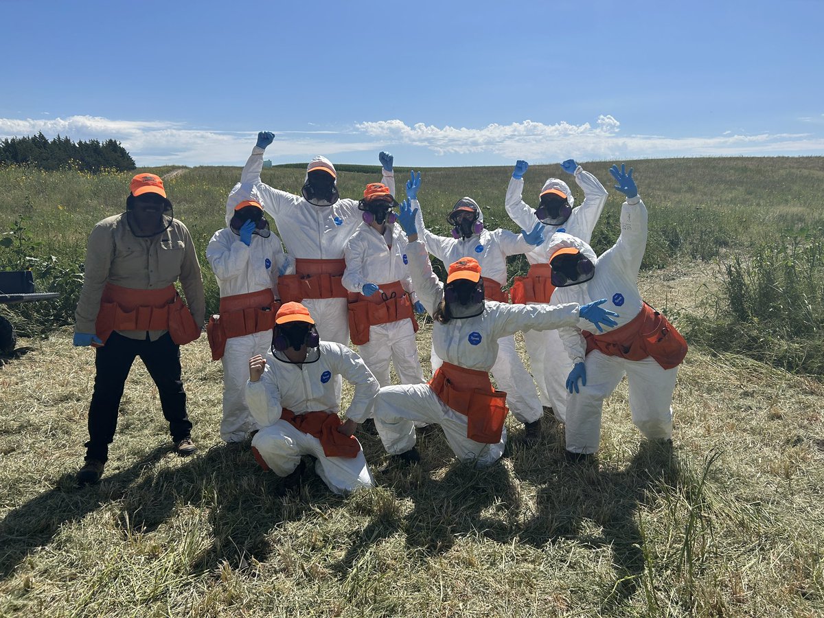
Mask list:
[[[249,189],[246,187],[245,189]],[[218,279],[220,296],[235,296],[250,292],[260,292],[271,288],[278,297],[278,271],[290,269],[290,260],[283,253],[280,239],[272,232],[268,238],[252,234],[250,246],[241,242],[241,237],[232,232],[229,222],[235,206],[246,199],[260,202],[255,190],[233,190],[226,204],[226,226],[214,233],[206,248],[206,259]],[[246,407],[243,386],[249,377],[249,359],[269,351],[272,331],[232,337],[227,339],[223,353],[223,419],[220,437],[226,442],[241,442],[251,431],[258,429]]]

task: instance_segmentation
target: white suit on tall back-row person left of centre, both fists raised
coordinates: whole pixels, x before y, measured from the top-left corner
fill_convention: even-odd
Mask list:
[[[260,180],[264,148],[255,146],[246,161],[241,184],[252,183],[263,198],[261,204],[272,215],[286,250],[293,258],[307,260],[342,260],[344,247],[363,222],[357,199],[339,199],[331,206],[315,206],[302,195],[273,189]],[[314,160],[325,162],[325,157]],[[395,177],[391,171],[382,171],[381,182],[395,194]],[[308,176],[308,175],[307,175]],[[345,298],[306,298],[301,301],[317,324],[321,340],[349,344],[349,319]]]

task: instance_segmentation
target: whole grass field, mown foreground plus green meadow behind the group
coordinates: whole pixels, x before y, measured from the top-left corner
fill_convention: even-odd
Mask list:
[[[761,264],[762,241],[791,232],[809,249],[820,236],[821,157],[633,164],[651,223],[642,293],[679,326],[720,323],[735,258],[746,269]],[[610,187],[608,166],[586,168]],[[490,225],[512,227],[508,172],[424,170],[428,222],[470,194]],[[169,182],[201,256],[238,174],[193,168]],[[377,174],[342,173],[341,194]],[[550,174],[563,172],[530,168],[527,201]],[[0,169],[0,229],[24,214],[21,249],[77,265],[94,222],[122,207],[128,176]],[[264,176],[293,191],[302,177]],[[618,233],[619,206],[612,194],[598,250]],[[765,264],[745,274],[775,268]],[[820,271],[798,292],[813,326]],[[430,329],[419,332],[424,371]],[[728,342],[691,346],[672,452],[639,438],[624,382],[606,402],[597,466],[566,465],[549,419],[535,449],[510,423],[508,454],[485,471],[456,464],[438,433],[421,439],[422,466],[379,471],[382,447],[367,435],[380,486],[349,498],[316,477],[280,497],[248,448],[222,445],[221,367],[204,338],[183,349],[200,452],[171,452],[157,391],[135,363],[104,479],[76,489],[93,353],[73,348],[68,328],[21,345],[0,366],[2,616],[824,615],[824,384]]]

